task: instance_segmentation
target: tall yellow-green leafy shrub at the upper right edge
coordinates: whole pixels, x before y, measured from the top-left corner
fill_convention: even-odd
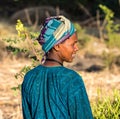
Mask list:
[[[99,7],[102,9],[102,11],[105,14],[105,22],[106,26],[105,29],[107,31],[107,37],[108,40],[106,41],[108,47],[110,48],[114,48],[114,47],[118,47],[120,48],[120,35],[119,33],[117,33],[118,31],[120,31],[120,24],[115,24],[114,23],[114,13],[112,10],[110,10],[108,7],[104,6],[104,5],[99,5]]]

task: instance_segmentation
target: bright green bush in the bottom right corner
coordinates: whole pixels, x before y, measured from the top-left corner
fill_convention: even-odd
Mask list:
[[[120,91],[115,90],[113,96],[98,96],[92,105],[94,119],[119,119],[120,118]]]

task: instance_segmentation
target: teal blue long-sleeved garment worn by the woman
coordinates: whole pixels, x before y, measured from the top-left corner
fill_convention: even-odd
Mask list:
[[[93,119],[82,78],[63,66],[39,65],[22,83],[24,119]]]

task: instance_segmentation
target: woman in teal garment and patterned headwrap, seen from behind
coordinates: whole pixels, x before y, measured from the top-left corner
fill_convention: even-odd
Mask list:
[[[62,15],[46,18],[37,40],[45,55],[24,77],[23,118],[93,119],[82,77],[63,65],[78,51],[73,23]]]

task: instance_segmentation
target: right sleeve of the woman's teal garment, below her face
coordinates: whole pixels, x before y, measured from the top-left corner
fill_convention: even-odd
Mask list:
[[[79,75],[72,77],[69,87],[68,110],[71,119],[93,119],[88,95]]]

